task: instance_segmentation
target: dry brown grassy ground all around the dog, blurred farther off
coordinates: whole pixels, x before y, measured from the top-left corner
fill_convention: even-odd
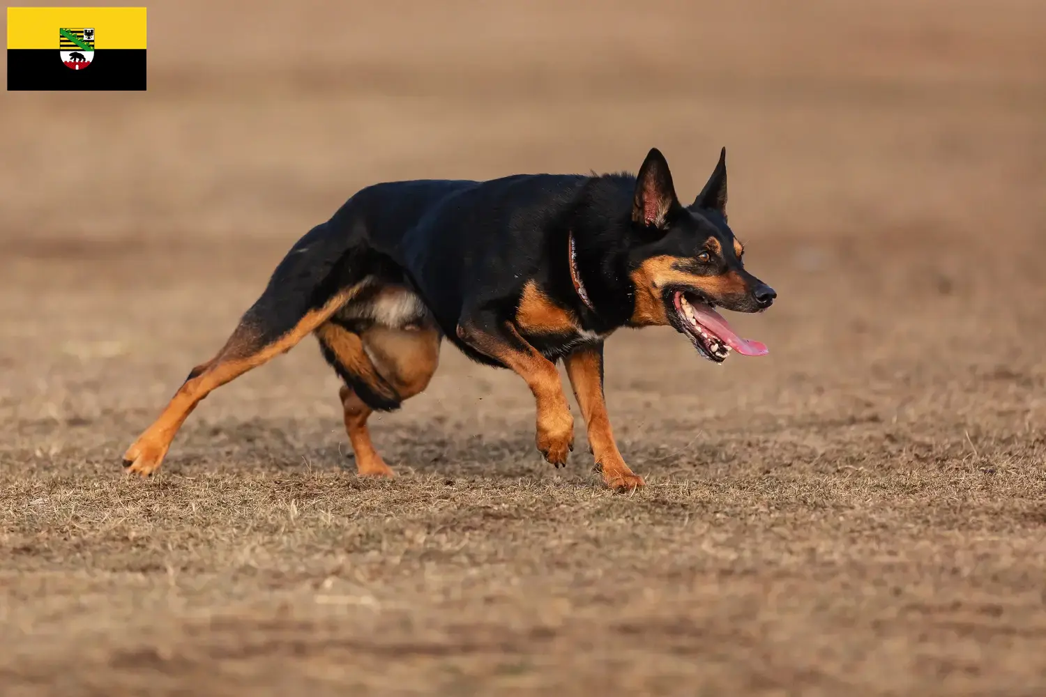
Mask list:
[[[1046,692],[1046,5],[767,4],[168,0],[147,93],[7,93],[0,692]],[[360,186],[722,144],[772,353],[609,342],[646,490],[448,347],[394,482],[314,345],[121,474]]]

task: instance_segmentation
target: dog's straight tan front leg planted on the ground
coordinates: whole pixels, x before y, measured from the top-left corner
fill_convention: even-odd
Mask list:
[[[602,471],[602,480],[617,491],[632,491],[644,485],[639,477],[624,464],[617,450],[614,432],[607,415],[602,394],[602,344],[579,348],[564,358],[570,386],[574,389],[577,404],[588,426],[592,455]]]

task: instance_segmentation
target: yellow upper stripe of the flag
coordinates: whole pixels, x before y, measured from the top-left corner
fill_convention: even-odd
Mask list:
[[[94,28],[94,48],[145,48],[144,7],[8,7],[7,48],[59,48],[62,27]]]

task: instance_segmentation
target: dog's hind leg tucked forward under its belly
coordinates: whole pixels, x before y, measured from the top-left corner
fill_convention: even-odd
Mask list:
[[[390,412],[429,385],[439,363],[441,336],[434,327],[396,329],[373,325],[361,333],[327,322],[316,330],[324,357],[345,380],[341,388],[345,432],[361,477],[393,477],[370,440],[367,419]]]

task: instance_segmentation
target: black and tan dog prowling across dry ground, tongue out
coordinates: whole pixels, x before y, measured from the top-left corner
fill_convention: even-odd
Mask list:
[[[367,433],[429,384],[447,336],[508,368],[537,401],[537,444],[564,465],[573,417],[563,359],[607,485],[643,480],[617,450],[602,393],[602,343],[620,327],[670,325],[698,353],[761,355],[713,309],[754,312],[776,294],[745,271],[726,216],[726,150],[690,206],[657,149],[636,177],[522,175],[487,182],[378,184],[305,234],[225,347],[197,366],[128,449],[129,471],[160,466],[185,418],[214,388],[313,333],[345,381],[345,428],[360,474],[390,477]]]

